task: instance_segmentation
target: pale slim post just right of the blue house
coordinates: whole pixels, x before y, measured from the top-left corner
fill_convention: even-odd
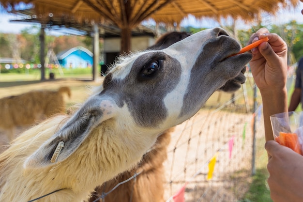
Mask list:
[[[93,65],[92,65],[92,80],[96,81],[99,71],[99,56],[100,56],[100,35],[98,24],[93,25]]]

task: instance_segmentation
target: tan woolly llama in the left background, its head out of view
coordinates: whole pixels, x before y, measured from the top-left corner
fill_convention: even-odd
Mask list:
[[[65,112],[64,93],[70,97],[70,88],[64,86],[58,91],[30,91],[1,98],[0,128],[7,131],[9,140],[13,140],[15,127],[28,127],[46,117]]]

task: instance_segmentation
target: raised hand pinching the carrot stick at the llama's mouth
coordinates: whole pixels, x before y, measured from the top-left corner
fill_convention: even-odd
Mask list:
[[[280,36],[269,33],[266,28],[252,34],[249,44],[265,37],[269,38],[268,42],[263,42],[251,50],[251,71],[260,91],[281,91],[285,88],[287,80],[288,48]]]

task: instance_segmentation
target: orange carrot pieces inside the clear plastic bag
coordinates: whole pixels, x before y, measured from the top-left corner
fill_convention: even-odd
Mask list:
[[[279,136],[276,137],[275,140],[279,144],[292,149],[296,153],[298,153],[300,155],[302,154],[300,142],[299,142],[299,139],[298,139],[298,135],[296,133],[280,132]]]

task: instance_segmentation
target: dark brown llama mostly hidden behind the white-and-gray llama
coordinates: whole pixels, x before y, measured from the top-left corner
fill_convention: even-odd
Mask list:
[[[148,49],[164,49],[190,35],[187,32],[167,32],[160,36],[155,45]],[[240,88],[239,84],[245,81],[244,72],[242,71],[242,74],[228,81],[220,90],[225,92],[238,90],[237,88]],[[132,202],[164,202],[165,168],[163,163],[167,159],[167,146],[170,142],[170,133],[173,130],[174,128],[170,128],[159,136],[152,150],[144,154],[141,161],[132,170],[124,171],[116,178],[104,183],[103,186],[97,187],[88,202],[96,201],[103,193],[109,192],[118,183],[134,176],[138,171],[140,171],[140,174],[136,176],[136,180],[128,181],[106,196],[103,195],[106,202],[129,202],[130,200]],[[146,187],[149,188],[146,189]]]

